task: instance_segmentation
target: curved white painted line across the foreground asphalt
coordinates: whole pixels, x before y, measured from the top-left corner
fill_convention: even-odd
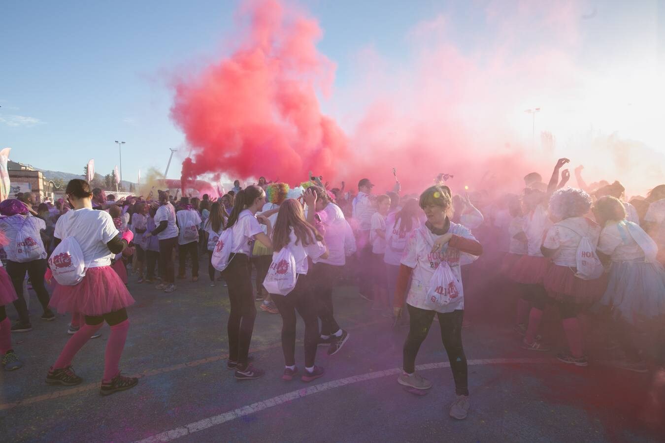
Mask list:
[[[524,365],[524,364],[543,364],[543,363],[552,363],[553,359],[476,359],[467,361],[469,366],[479,366],[479,365]],[[418,371],[428,371],[429,369],[439,369],[444,367],[450,367],[450,363],[447,361],[442,361],[440,363],[426,363],[424,365],[416,366]],[[326,383],[321,383],[320,385],[312,385],[303,389],[298,389],[297,391],[291,391],[283,395],[278,395],[272,399],[267,399],[259,401],[249,406],[243,406],[242,408],[237,408],[235,410],[230,410],[229,412],[224,412],[223,414],[211,416],[208,418],[203,418],[203,420],[198,420],[197,422],[186,424],[185,426],[180,426],[180,428],[175,428],[168,430],[166,432],[161,432],[160,434],[155,434],[143,440],[139,440],[138,443],[156,443],[156,442],[170,442],[171,440],[176,440],[176,438],[188,436],[204,430],[211,428],[212,426],[217,426],[218,424],[223,424],[236,418],[241,418],[246,415],[255,414],[261,410],[271,408],[273,406],[278,406],[295,399],[301,399],[309,395],[316,393],[321,393],[323,391],[329,391],[334,388],[352,385],[353,383],[358,383],[360,381],[367,381],[373,379],[380,379],[382,377],[388,377],[388,375],[398,375],[402,371],[399,368],[386,369],[385,371],[375,371],[362,375],[354,375],[352,377],[346,377],[344,379],[338,379],[333,381],[328,381]]]

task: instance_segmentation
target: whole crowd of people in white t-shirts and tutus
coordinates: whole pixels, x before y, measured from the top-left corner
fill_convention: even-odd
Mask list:
[[[282,379],[323,377],[317,349],[328,347],[328,355],[334,355],[350,337],[334,317],[333,291],[355,280],[359,296],[371,303],[368,309],[394,326],[408,327],[400,385],[432,387],[416,373],[415,361],[438,321],[456,388],[450,415],[466,418],[464,284],[489,280],[492,270],[507,288],[497,296],[514,304],[516,346],[550,352],[541,325],[553,315],[568,345],[556,355],[563,363],[589,365],[589,334],[600,331],[602,345],[619,347],[624,355],[612,365],[663,371],[665,185],[626,201],[619,181],[587,185],[582,167],[575,169],[577,187],[569,186],[567,163],[560,159],[547,183],[533,172],[521,189],[471,194],[454,193],[446,185],[452,177],[440,174],[416,194],[402,193],[398,182],[375,195],[370,179],[360,180],[356,192],[346,191],[344,182],[331,187],[312,177],[293,195],[286,183],[260,177],[244,189],[236,181],[214,201],[208,195],[177,199],[168,191],[158,191],[155,199],[115,201],[82,180],[70,181],[66,199],[55,205],[35,205],[30,194],[7,199],[0,202],[6,268],[0,268],[3,367],[21,367],[11,334],[32,329],[23,290],[27,274],[43,308],[41,319],[55,319],[53,310],[71,314],[67,332],[72,337],[46,382],[81,383],[72,359],[106,321],[111,332],[100,392],[134,387],[138,380],[119,369],[129,329],[126,308],[134,303],[128,279],[173,293],[178,279],[198,281],[199,260],[207,256],[210,286],[222,282],[227,288],[227,367],[238,380],[265,374],[249,355],[257,301],[261,311],[283,320]],[[83,275],[75,284],[61,284],[59,273],[76,256],[72,244],[80,248]],[[224,251],[227,256],[221,257]],[[295,281],[285,294],[271,293],[265,289],[268,282],[289,269],[285,256],[293,260]],[[481,272],[473,274],[474,267]],[[47,283],[54,286],[51,295]],[[13,325],[8,304],[18,317]],[[297,315],[305,323],[302,373],[295,361]],[[653,347],[646,345],[645,335]]]

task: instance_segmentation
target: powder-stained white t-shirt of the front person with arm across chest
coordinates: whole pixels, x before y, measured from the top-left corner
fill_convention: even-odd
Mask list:
[[[462,224],[450,222],[450,229],[448,232],[475,240],[471,231],[462,226]],[[459,249],[452,248],[448,244],[444,246],[442,252],[435,252],[433,254],[432,246],[434,245],[434,241],[439,237],[439,235],[432,234],[432,231],[430,231],[427,226],[420,226],[411,232],[406,249],[404,249],[404,255],[402,255],[402,264],[409,268],[413,268],[414,270],[412,274],[411,288],[406,297],[406,303],[414,306],[414,308],[429,309],[425,304],[428,284],[430,284],[430,279],[434,275],[436,268],[439,267],[441,262],[446,261],[450,265],[450,269],[454,276],[460,281],[461,290],[460,296],[440,312],[463,310],[464,288],[462,288],[460,258],[462,255],[468,256],[470,260],[475,260],[477,257],[469,254],[462,254]]]

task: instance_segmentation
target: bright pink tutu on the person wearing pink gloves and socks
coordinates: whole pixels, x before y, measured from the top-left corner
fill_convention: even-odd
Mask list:
[[[49,306],[60,313],[103,315],[134,304],[126,286],[110,266],[89,268],[75,286],[56,285]]]

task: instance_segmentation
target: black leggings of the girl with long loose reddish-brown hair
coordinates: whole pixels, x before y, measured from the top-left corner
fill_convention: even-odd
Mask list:
[[[319,343],[317,304],[307,275],[298,276],[295,288],[288,296],[272,294],[273,302],[282,316],[282,351],[287,366],[295,365],[295,311],[305,321],[305,367],[313,367]]]

